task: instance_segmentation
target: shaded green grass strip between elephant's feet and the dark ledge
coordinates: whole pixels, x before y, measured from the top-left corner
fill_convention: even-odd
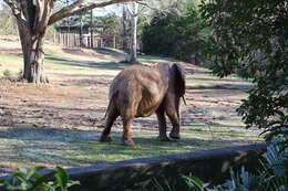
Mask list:
[[[0,127],[7,129],[7,127]],[[33,132],[31,132],[33,131]],[[22,129],[17,135],[1,132],[1,150],[12,149],[14,153],[2,156],[2,162],[10,166],[33,167],[44,163],[45,166],[61,165],[85,166],[104,161],[119,161],[142,157],[156,157],[171,153],[207,150],[222,146],[237,146],[244,139],[248,142],[259,141],[257,136],[250,136],[251,130],[238,127],[220,126],[184,126],[182,139],[161,142],[155,139],[156,130],[134,129],[135,147],[121,145],[121,129],[113,129],[113,141],[103,144],[96,139],[101,129],[93,130],[56,130],[52,138],[48,138],[41,128]],[[61,148],[61,149],[60,149]],[[13,155],[18,155],[17,160]],[[20,156],[20,157],[19,157]],[[7,158],[7,160],[6,160]]]

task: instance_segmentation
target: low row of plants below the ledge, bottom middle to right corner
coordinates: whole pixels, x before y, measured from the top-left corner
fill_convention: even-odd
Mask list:
[[[153,179],[147,190],[187,190],[187,191],[287,191],[288,189],[288,148],[281,150],[284,140],[274,139],[260,159],[261,167],[250,173],[241,167],[240,171],[230,169],[230,178],[224,183],[214,185],[193,176],[174,177],[172,180],[162,177]],[[179,187],[183,180],[185,185]],[[177,182],[175,184],[175,182]]]

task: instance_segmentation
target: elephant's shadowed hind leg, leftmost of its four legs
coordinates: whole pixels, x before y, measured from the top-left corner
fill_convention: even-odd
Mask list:
[[[105,128],[100,137],[100,141],[102,141],[102,142],[112,141],[112,138],[110,136],[111,127],[112,127],[114,120],[117,118],[117,116],[119,116],[119,112],[115,108],[112,108],[107,112]]]

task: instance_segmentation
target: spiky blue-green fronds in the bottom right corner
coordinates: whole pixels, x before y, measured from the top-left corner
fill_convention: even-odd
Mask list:
[[[208,185],[197,177],[184,177],[192,190],[198,191],[263,191],[288,189],[288,149],[280,151],[279,142],[268,146],[263,155],[263,168],[258,173],[247,172],[244,167],[240,172],[230,169],[230,179],[219,185]]]

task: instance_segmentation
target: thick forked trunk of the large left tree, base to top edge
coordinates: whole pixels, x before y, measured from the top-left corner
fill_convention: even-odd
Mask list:
[[[23,81],[29,83],[48,83],[44,73],[43,42],[53,1],[20,1],[22,19],[18,19],[19,36],[23,52]]]

